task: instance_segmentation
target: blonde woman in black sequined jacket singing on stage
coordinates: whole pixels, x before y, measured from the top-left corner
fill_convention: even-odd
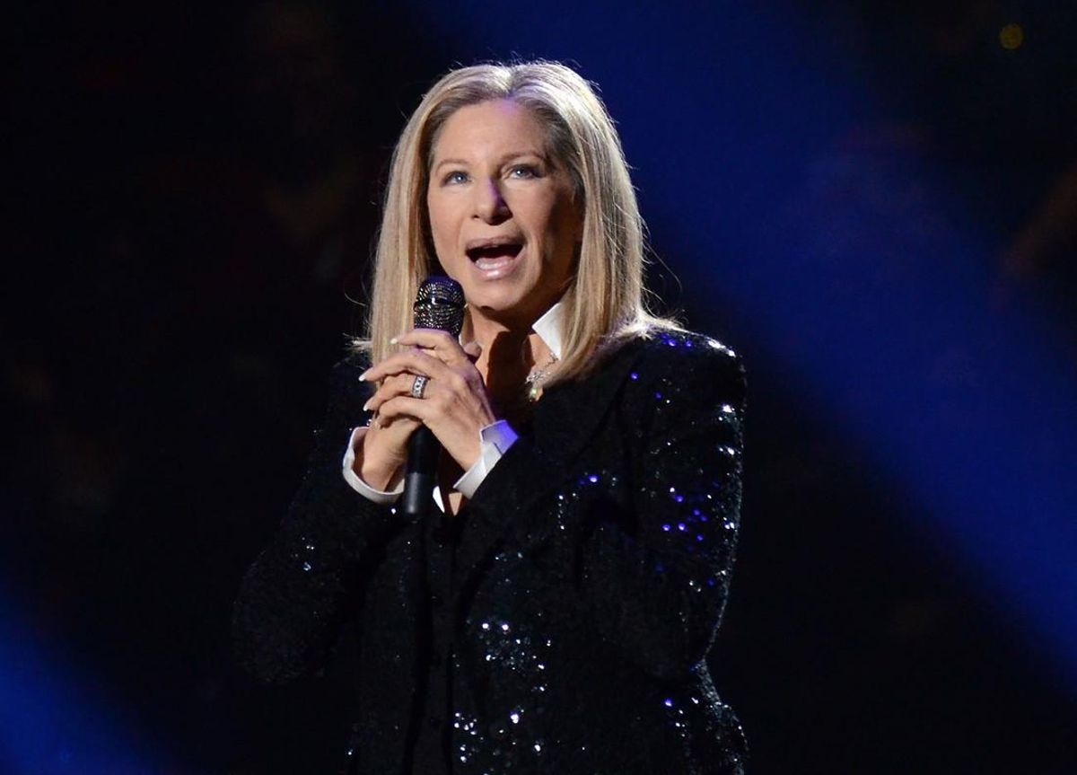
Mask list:
[[[743,373],[648,315],[642,272],[620,142],[579,75],[482,65],[425,95],[393,157],[368,338],[334,370],[235,614],[270,681],[356,622],[351,772],[742,771],[704,658]],[[463,287],[459,341],[408,331],[429,274]],[[421,424],[444,453],[439,511],[415,520],[393,503]]]

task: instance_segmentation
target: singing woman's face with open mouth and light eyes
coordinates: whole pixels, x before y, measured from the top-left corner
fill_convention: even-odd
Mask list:
[[[573,275],[583,217],[547,144],[538,119],[506,99],[461,108],[434,146],[434,249],[474,324],[530,328]]]

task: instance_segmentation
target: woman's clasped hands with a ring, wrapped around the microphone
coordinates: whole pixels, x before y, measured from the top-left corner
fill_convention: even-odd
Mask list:
[[[466,348],[448,333],[416,329],[397,337],[405,349],[360,377],[380,380],[364,406],[376,420],[363,439],[361,475],[370,486],[386,486],[407,456],[408,437],[425,425],[445,451],[466,471],[479,456],[479,431],[496,416],[482,376],[475,368],[478,345]],[[416,376],[429,377],[422,398],[411,396]]]

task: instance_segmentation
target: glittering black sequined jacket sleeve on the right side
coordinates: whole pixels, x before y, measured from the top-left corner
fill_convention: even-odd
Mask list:
[[[598,635],[659,678],[684,675],[711,647],[741,500],[740,358],[708,340],[674,342],[680,357],[633,372],[621,404],[635,437],[630,504],[582,537],[576,581]]]

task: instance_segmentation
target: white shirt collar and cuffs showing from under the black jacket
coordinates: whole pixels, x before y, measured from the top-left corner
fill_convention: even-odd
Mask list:
[[[549,348],[554,358],[558,360],[561,358],[561,327],[563,316],[564,313],[561,303],[558,302],[547,309],[541,318],[535,320],[534,326],[531,327],[531,330],[538,335],[538,338]],[[394,503],[404,493],[403,481],[391,492],[375,489],[364,482],[353,469],[355,465],[355,451],[362,445],[365,434],[366,426],[360,426],[351,431],[342,460],[344,479],[356,493],[367,500],[383,504]],[[478,489],[478,486],[482,484],[482,480],[498,465],[501,456],[508,452],[508,447],[516,442],[516,431],[503,419],[479,430],[478,459],[475,460],[471,468],[464,471],[463,476],[457,480],[456,484],[452,485],[453,488],[465,498],[471,499],[475,495],[475,490]],[[444,511],[445,506],[442,502],[442,494],[437,487],[434,487],[434,500],[437,502],[437,507]]]

